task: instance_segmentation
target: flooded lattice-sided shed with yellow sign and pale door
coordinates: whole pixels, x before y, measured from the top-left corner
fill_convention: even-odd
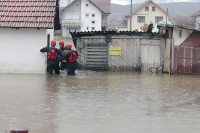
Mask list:
[[[160,34],[89,32],[73,34],[73,38],[82,69],[149,71],[164,59],[165,41]]]

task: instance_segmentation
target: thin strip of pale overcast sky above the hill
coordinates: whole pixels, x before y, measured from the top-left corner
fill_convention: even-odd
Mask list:
[[[133,4],[134,3],[143,3],[146,0],[132,0]],[[156,3],[167,3],[167,2],[200,2],[200,0],[153,0]],[[126,4],[130,4],[131,0],[111,0],[112,3],[115,4],[122,4],[122,5],[126,5]]]

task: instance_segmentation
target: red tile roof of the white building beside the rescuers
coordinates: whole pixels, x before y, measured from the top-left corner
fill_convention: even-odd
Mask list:
[[[0,27],[53,28],[56,0],[1,0]]]

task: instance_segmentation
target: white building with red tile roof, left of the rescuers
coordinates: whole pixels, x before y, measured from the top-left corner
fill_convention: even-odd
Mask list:
[[[1,0],[0,72],[44,73],[40,53],[53,39],[56,0]]]

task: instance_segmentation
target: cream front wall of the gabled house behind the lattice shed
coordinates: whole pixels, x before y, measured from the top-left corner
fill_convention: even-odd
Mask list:
[[[146,6],[149,6],[149,11],[145,11],[145,6],[144,6],[132,16],[132,30],[140,29],[141,26],[144,24],[153,23],[153,25],[156,26],[155,23],[156,16],[163,17],[163,20],[166,20],[166,13],[163,12],[161,9],[159,9],[157,6],[155,6],[152,3],[149,3]],[[155,11],[152,11],[152,7],[155,7]],[[145,16],[145,23],[138,23],[137,22],[138,16]],[[128,24],[128,28],[129,27],[130,26]]]

